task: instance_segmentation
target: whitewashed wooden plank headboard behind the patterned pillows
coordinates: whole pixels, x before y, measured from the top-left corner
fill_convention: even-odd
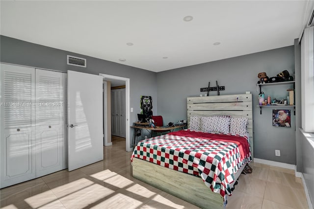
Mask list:
[[[187,98],[187,127],[191,116],[230,115],[232,117],[248,118],[251,155],[253,151],[253,111],[252,94],[234,94],[209,97]],[[254,159],[254,158],[253,158]]]

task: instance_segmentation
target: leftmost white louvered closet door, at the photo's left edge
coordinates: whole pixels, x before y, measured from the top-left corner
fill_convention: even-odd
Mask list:
[[[0,187],[36,177],[35,69],[0,64]]]

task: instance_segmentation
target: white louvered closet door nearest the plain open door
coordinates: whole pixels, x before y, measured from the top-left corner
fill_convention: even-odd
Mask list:
[[[36,177],[63,168],[63,75],[36,69]]]

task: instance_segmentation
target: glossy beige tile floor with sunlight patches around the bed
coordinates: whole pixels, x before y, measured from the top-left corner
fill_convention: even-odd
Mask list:
[[[113,137],[105,160],[72,172],[59,171],[0,190],[5,209],[196,209],[197,207],[132,177],[125,139]],[[294,171],[251,163],[241,175],[226,209],[306,209],[301,179]],[[210,204],[210,203],[209,203]]]

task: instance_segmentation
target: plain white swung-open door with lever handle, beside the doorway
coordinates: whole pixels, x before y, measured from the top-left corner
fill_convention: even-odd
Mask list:
[[[103,159],[103,77],[68,71],[68,170]]]

